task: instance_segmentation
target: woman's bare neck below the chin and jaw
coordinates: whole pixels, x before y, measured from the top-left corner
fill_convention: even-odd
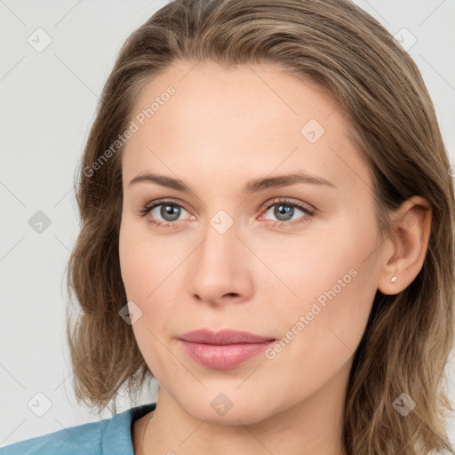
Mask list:
[[[339,371],[344,380],[337,375],[299,403],[246,425],[240,416],[238,425],[195,419],[160,387],[156,411],[134,427],[134,453],[345,455],[342,418],[350,366]]]

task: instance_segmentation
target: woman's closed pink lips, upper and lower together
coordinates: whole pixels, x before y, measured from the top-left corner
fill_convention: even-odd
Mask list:
[[[259,355],[276,339],[247,331],[200,329],[185,333],[180,344],[186,354],[206,368],[228,370]]]

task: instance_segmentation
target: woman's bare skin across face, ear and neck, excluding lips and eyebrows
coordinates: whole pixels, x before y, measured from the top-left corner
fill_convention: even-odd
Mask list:
[[[273,64],[179,61],[144,86],[133,113],[169,85],[176,93],[132,135],[123,156],[122,278],[142,311],[132,330],[160,384],[156,411],[134,423],[134,453],[343,454],[355,349],[375,292],[403,291],[419,273],[429,204],[406,201],[393,214],[403,227],[381,240],[369,168],[347,139],[341,108],[311,80]],[[300,132],[309,119],[325,130],[315,143]],[[248,180],[298,170],[334,188],[296,183],[242,192]],[[129,185],[142,172],[179,178],[191,192]],[[178,220],[163,218],[161,206],[140,216],[164,197],[185,205]],[[264,206],[277,197],[315,214],[294,208],[277,226],[281,204]],[[234,221],[224,234],[210,223],[220,210]],[[203,327],[281,339],[350,269],[355,277],[273,359],[260,354],[213,370],[180,346],[178,336]],[[211,406],[220,393],[232,403],[224,415]]]

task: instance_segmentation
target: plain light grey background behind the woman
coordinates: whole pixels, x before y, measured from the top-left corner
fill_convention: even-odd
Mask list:
[[[0,446],[98,420],[76,405],[65,334],[64,272],[79,228],[73,177],[116,53],[165,3],[0,0]],[[434,100],[454,164],[455,1],[355,3],[392,35],[409,30],[398,34],[404,44],[417,39],[408,52]],[[28,43],[31,36],[35,46],[45,44],[36,28],[52,38],[43,52]],[[41,234],[28,224],[38,211],[51,221]],[[140,403],[155,399],[156,388]],[[52,407],[38,417],[30,400],[32,409],[40,403],[35,411],[45,411],[46,400]],[[117,411],[135,404],[124,396]],[[455,419],[448,426],[455,443]]]

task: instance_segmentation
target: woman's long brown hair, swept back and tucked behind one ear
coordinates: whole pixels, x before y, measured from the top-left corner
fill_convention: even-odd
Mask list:
[[[68,262],[68,291],[82,311],[68,340],[78,402],[102,410],[120,387],[153,378],[131,325],[118,254],[122,148],[92,164],[127,129],[141,88],[176,60],[235,67],[270,62],[328,89],[352,123],[350,138],[371,167],[383,238],[389,213],[411,196],[432,208],[423,267],[396,295],[376,293],[347,387],[344,445],[352,455],[450,450],[443,389],[453,342],[454,191],[435,109],[407,52],[347,0],[176,0],[125,42],[108,77],[78,170],[81,232]],[[92,169],[91,172],[87,172]],[[406,417],[395,399],[417,404]],[[132,396],[132,395],[130,395]]]

